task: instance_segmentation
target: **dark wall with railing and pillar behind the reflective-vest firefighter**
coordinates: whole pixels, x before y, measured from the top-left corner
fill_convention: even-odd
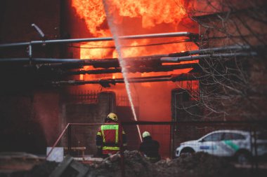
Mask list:
[[[63,127],[67,123],[103,123],[108,113],[116,113],[116,97],[114,92],[100,92],[95,104],[81,101],[65,101],[61,105],[61,120]],[[72,126],[72,146],[86,147],[86,154],[96,154],[96,133],[99,125]],[[63,145],[67,146],[67,134],[63,139]]]

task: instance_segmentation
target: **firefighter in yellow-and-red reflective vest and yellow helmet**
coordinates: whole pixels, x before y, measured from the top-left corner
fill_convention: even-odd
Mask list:
[[[119,152],[120,141],[122,146],[126,147],[126,134],[122,127],[117,123],[118,118],[115,113],[110,113],[105,118],[105,125],[101,125],[96,135],[96,146],[98,148],[98,156],[108,157]],[[119,132],[122,132],[122,140]]]

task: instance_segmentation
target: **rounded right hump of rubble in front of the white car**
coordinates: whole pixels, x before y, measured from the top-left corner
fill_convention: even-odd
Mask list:
[[[161,160],[156,163],[160,176],[236,176],[238,171],[228,161],[207,153],[183,155],[174,160]]]

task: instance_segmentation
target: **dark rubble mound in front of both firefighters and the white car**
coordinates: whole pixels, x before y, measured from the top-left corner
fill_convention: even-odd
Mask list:
[[[108,158],[101,164],[93,164],[91,176],[120,176],[119,155]],[[233,165],[220,157],[207,153],[195,153],[174,160],[161,160],[155,164],[148,162],[138,151],[125,151],[125,176],[219,176],[230,177],[237,174]]]

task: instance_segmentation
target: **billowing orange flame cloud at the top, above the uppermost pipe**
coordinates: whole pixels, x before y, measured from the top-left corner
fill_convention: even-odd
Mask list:
[[[181,0],[117,0],[108,1],[111,14],[117,17],[115,23],[121,24],[123,17],[141,17],[142,27],[155,27],[156,24],[178,24],[186,16],[184,2]],[[86,20],[86,25],[93,36],[110,34],[101,28],[105,22],[105,10],[102,0],[72,0],[79,17]]]

